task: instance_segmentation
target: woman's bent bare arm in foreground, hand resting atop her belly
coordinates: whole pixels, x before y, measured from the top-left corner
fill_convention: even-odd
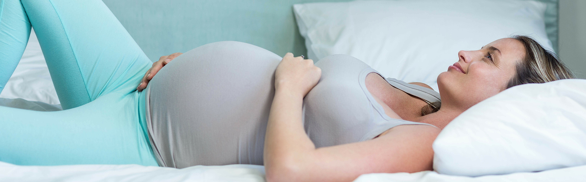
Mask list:
[[[352,181],[360,174],[431,170],[440,129],[400,125],[375,139],[315,148],[302,124],[303,97],[319,81],[312,60],[287,53],[275,71],[264,144],[267,181]]]

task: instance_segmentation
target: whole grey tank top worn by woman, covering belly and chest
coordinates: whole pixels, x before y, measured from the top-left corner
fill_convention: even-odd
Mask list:
[[[145,95],[148,134],[159,165],[263,164],[275,68],[281,59],[251,44],[222,41],[165,65]],[[366,75],[376,71],[362,61],[339,54],[316,65],[322,68],[321,81],[303,104],[304,127],[316,146],[365,141],[397,125],[423,124],[384,113],[364,85]],[[429,102],[440,100],[431,89],[387,81]]]

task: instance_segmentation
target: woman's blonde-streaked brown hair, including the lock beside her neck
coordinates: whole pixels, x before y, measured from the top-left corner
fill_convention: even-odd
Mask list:
[[[509,80],[506,88],[526,83],[545,83],[560,79],[575,78],[573,72],[558,60],[555,53],[546,50],[529,36],[512,36],[521,41],[525,47],[525,57],[516,65],[516,73]],[[421,115],[435,113],[440,110],[441,102],[428,103],[421,108]]]

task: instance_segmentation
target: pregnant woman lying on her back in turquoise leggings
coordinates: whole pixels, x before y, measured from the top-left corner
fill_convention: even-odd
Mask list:
[[[0,2],[0,86],[32,26],[66,109],[0,107],[0,160],[15,164],[264,164],[268,181],[431,170],[431,143],[469,107],[572,78],[523,36],[460,51],[438,76],[441,94],[348,55],[314,65],[235,41],[152,64],[99,0]]]

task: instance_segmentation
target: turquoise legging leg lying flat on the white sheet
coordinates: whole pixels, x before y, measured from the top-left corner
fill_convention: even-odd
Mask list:
[[[158,166],[138,122],[139,93],[110,93],[69,110],[0,106],[0,161],[20,165]],[[109,106],[109,107],[104,107]],[[129,114],[130,113],[130,114]]]

